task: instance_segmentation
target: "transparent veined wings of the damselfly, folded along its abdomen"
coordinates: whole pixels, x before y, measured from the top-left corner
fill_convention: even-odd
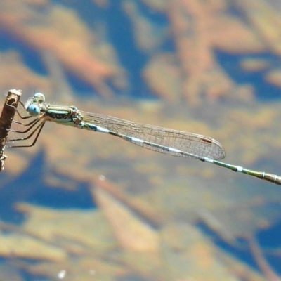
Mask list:
[[[216,141],[214,138],[210,138],[208,136],[202,136],[196,133],[188,133],[184,131],[176,131],[148,124],[129,122],[124,119],[119,119],[108,115],[100,115],[83,111],[79,111],[79,113],[83,117],[84,122],[101,126],[107,130],[125,136],[140,138],[143,141],[155,143],[157,145],[164,145],[169,148],[175,148],[177,150],[192,153],[200,157],[223,159],[226,156],[226,152],[223,150],[221,143],[218,143],[218,141]],[[145,143],[135,144],[141,145],[150,150],[159,151],[155,147],[145,145]],[[169,153],[163,150],[159,152]],[[188,155],[174,155],[190,157]]]

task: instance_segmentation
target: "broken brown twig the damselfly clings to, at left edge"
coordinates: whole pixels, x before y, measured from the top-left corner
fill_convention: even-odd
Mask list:
[[[7,158],[4,155],[6,140],[8,132],[11,128],[13,118],[15,117],[15,108],[18,107],[20,96],[22,95],[21,90],[10,90],[6,101],[3,106],[3,110],[0,117],[0,171],[4,170],[4,161]]]

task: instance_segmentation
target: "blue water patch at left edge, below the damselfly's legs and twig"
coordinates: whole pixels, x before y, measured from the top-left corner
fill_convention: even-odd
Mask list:
[[[77,182],[73,178],[63,178],[56,175],[55,171],[46,171],[46,160],[44,150],[39,152],[30,166],[20,176],[0,189],[0,219],[10,223],[22,223],[25,215],[15,209],[18,202],[27,202],[54,209],[92,209],[95,204],[89,192],[90,187],[86,182]],[[76,185],[76,190],[65,190],[64,187],[57,186],[50,188],[44,178],[52,174],[59,176],[62,181],[71,181]]]

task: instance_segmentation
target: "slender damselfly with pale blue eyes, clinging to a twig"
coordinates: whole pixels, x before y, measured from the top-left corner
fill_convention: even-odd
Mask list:
[[[8,142],[24,141],[35,135],[34,141],[31,145],[11,145],[10,147],[13,148],[33,146],[45,122],[50,121],[79,129],[107,133],[130,143],[141,145],[143,148],[173,156],[198,159],[202,162],[216,164],[232,171],[256,176],[257,178],[281,185],[281,176],[268,174],[263,171],[244,169],[242,166],[218,161],[218,159],[223,159],[226,156],[226,152],[221,143],[218,143],[218,141],[209,136],[134,123],[108,115],[84,112],[74,106],[51,105],[46,103],[43,93],[35,93],[32,98],[27,100],[24,107],[28,115],[22,117],[18,112],[20,118],[24,120],[34,117],[34,119],[29,123],[14,121],[27,126],[25,131],[15,132],[29,133],[29,135],[23,138],[8,140]]]

